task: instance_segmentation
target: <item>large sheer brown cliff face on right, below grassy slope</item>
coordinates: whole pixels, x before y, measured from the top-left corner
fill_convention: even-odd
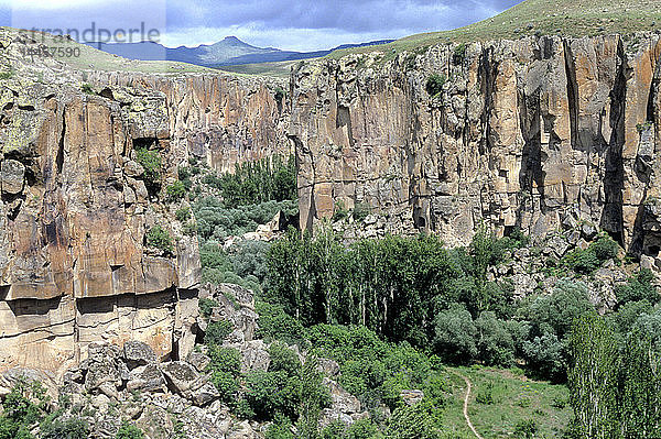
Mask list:
[[[394,232],[456,245],[481,221],[541,237],[571,217],[655,253],[660,54],[655,34],[543,36],[299,68],[301,224],[366,202]]]

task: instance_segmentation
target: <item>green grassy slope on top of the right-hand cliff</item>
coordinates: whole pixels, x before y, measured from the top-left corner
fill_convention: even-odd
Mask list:
[[[337,58],[370,51],[402,52],[447,42],[518,39],[537,32],[592,36],[653,30],[661,30],[661,0],[525,0],[491,19],[464,28],[411,35],[378,47],[336,51],[328,56]]]

